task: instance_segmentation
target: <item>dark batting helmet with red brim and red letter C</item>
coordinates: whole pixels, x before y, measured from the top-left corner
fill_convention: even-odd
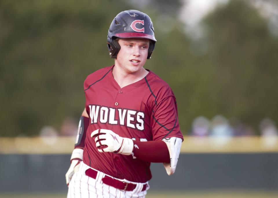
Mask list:
[[[111,58],[117,58],[120,45],[116,38],[147,38],[150,40],[149,59],[156,44],[151,18],[138,10],[120,12],[112,21],[107,35],[107,47]]]

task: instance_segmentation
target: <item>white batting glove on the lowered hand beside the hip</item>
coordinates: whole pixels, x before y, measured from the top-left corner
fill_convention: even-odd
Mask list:
[[[69,170],[65,175],[67,186],[69,186],[69,182],[72,179],[73,174],[79,170],[80,162],[82,161],[82,159],[83,149],[74,149],[70,158],[71,164],[69,166]]]

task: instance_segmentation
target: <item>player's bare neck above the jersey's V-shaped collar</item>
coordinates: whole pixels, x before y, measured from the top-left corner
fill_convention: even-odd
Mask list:
[[[145,70],[143,67],[139,71],[132,73],[121,69],[117,65],[115,65],[112,70],[112,75],[121,88],[143,79],[148,73],[149,71]]]

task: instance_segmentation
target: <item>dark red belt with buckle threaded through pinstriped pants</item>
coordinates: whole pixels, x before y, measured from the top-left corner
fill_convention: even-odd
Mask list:
[[[87,175],[88,177],[92,177],[94,179],[96,179],[97,174],[98,174],[98,171],[95,171],[94,169],[87,169],[85,171],[85,175]],[[103,177],[101,180],[103,181],[104,184],[113,186],[114,188],[118,188],[123,191],[132,191],[136,188],[136,184],[122,182],[120,180],[114,179],[107,175],[105,175],[105,177]],[[144,184],[141,191],[146,190],[146,188],[147,188],[147,184]]]

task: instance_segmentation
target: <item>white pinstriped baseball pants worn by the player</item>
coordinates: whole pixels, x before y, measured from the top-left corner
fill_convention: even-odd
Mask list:
[[[79,171],[74,173],[74,175],[72,176],[72,180],[69,182],[67,198],[144,198],[147,194],[147,190],[149,189],[149,185],[147,185],[147,189],[141,191],[143,185],[146,183],[136,183],[127,180],[120,180],[137,185],[133,191],[119,190],[117,188],[114,188],[113,186],[103,184],[101,180],[105,176],[103,172],[98,171],[96,179],[85,175],[85,171],[89,168],[90,167],[83,162],[80,163]]]

